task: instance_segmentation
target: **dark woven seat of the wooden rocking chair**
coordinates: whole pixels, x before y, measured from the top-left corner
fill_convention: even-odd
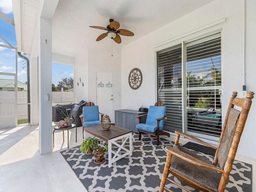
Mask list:
[[[174,145],[174,148],[178,148],[180,151],[185,152],[195,158],[198,158],[208,164],[212,162],[203,156],[197,155],[194,151],[188,150],[182,146]],[[204,186],[213,192],[218,192],[218,186],[220,183],[221,174],[206,168],[192,165],[176,156],[172,156],[172,161],[170,164],[170,173],[178,173],[183,178],[192,180],[193,182],[198,183],[200,186]]]

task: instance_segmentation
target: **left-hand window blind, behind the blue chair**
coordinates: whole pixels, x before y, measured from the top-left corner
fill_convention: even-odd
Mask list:
[[[158,52],[158,100],[166,106],[164,129],[182,130],[182,48],[181,44]]]

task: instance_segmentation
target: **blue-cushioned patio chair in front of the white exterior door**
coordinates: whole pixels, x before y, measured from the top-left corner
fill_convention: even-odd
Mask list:
[[[80,115],[83,126],[83,138],[84,128],[102,124],[104,114],[99,112],[99,106],[84,106],[83,113]]]

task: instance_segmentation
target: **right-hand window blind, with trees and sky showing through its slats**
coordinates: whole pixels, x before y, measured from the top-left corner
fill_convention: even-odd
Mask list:
[[[220,33],[186,44],[186,114],[188,131],[221,132]]]

